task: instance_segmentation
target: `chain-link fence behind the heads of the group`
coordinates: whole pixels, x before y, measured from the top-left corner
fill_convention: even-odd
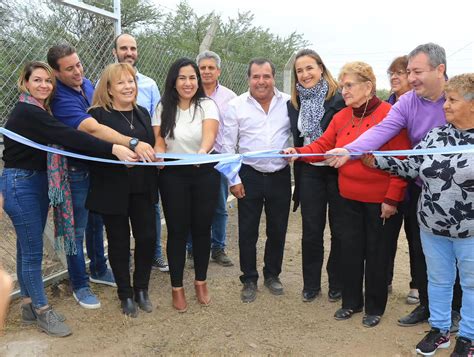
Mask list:
[[[18,0],[17,0],[18,1]],[[90,1],[103,9],[113,10],[112,0]],[[85,76],[95,83],[104,67],[113,62],[113,20],[82,10],[72,9],[47,0],[18,1],[18,6],[30,10],[22,18],[14,18],[0,29],[0,125],[4,125],[8,113],[18,99],[16,81],[29,60],[46,60],[48,49],[67,42],[76,47],[83,63]],[[29,12],[28,12],[29,11]],[[41,21],[32,21],[35,11]],[[7,15],[9,15],[7,13]],[[1,19],[0,19],[1,20]],[[139,33],[136,36],[139,51],[138,69],[153,78],[163,88],[171,63],[179,57],[196,58],[179,48],[165,48],[158,38]],[[247,90],[247,65],[223,61],[220,81],[237,94]],[[277,75],[277,86],[282,88],[283,76]]]

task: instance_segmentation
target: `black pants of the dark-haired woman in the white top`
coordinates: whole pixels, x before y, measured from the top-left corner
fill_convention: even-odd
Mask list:
[[[183,286],[186,240],[193,237],[195,279],[207,279],[211,224],[216,211],[220,174],[212,164],[166,167],[161,170],[160,194],[168,229],[166,253],[171,286]]]

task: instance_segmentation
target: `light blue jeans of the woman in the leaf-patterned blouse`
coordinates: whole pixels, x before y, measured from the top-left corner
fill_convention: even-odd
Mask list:
[[[456,261],[462,288],[459,336],[474,340],[474,237],[448,238],[420,230],[428,273],[432,327],[449,330]]]

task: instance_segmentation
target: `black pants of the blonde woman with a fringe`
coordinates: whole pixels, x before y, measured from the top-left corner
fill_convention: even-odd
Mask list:
[[[133,290],[148,289],[156,245],[155,205],[144,194],[131,194],[128,215],[103,214],[109,260],[117,283],[119,299],[133,297]],[[133,288],[130,282],[130,225],[135,238]]]

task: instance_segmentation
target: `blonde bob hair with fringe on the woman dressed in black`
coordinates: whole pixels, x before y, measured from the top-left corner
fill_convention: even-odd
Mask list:
[[[109,89],[112,83],[118,81],[123,74],[131,75],[135,82],[135,99],[132,104],[134,107],[137,106],[138,86],[135,69],[129,63],[112,63],[105,67],[100,76],[92,98],[91,108],[104,108],[107,111],[113,108],[113,98],[109,93]]]

